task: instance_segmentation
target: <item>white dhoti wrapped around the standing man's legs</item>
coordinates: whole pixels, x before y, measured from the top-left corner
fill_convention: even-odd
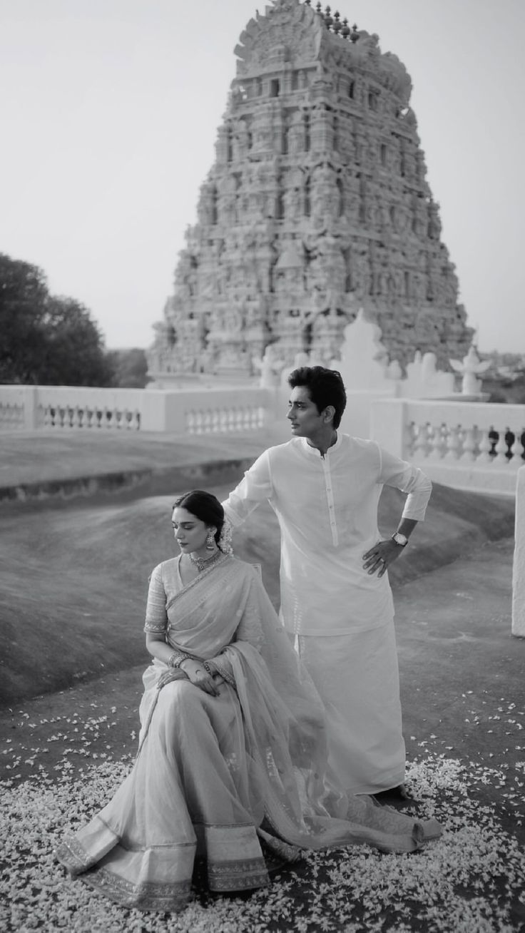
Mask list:
[[[374,794],[405,779],[394,620],[344,635],[297,635],[325,703],[328,768],[339,787]]]

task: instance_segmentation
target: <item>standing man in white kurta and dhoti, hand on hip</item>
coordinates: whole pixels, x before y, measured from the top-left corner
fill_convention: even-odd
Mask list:
[[[233,527],[264,499],[281,527],[281,617],[325,703],[328,764],[353,794],[406,796],[394,604],[386,571],[424,518],[432,484],[373,440],[338,432],[338,372],[295,369],[293,438],[261,454],[223,503]],[[383,484],[408,494],[380,540]]]

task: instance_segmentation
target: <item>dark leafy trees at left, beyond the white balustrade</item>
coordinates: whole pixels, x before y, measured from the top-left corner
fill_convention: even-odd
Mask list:
[[[145,351],[106,350],[88,308],[49,294],[37,266],[0,253],[0,383],[143,388]]]

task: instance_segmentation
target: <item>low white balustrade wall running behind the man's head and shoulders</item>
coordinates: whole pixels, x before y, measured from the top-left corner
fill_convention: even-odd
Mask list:
[[[290,437],[287,397],[285,387],[249,385],[172,391],[0,385],[0,431],[224,435],[271,425],[285,440]],[[418,463],[431,479],[457,488],[515,493],[516,473],[525,463],[525,406],[350,393],[349,408],[351,423],[343,422],[343,431],[377,439]],[[370,411],[369,424],[364,418],[357,424],[359,411]]]

